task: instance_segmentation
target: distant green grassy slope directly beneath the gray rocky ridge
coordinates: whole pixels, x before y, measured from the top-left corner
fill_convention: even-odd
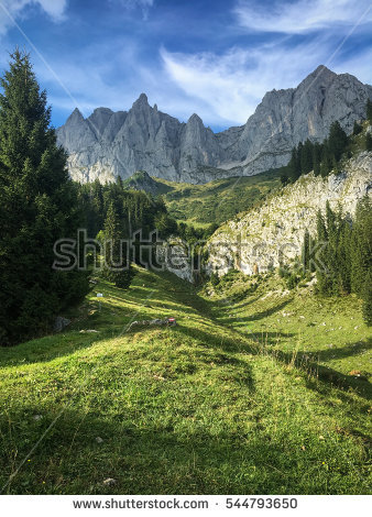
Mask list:
[[[249,210],[280,185],[280,172],[216,179],[205,185],[153,179],[164,189],[163,198],[171,216],[200,228],[215,222],[220,224]]]

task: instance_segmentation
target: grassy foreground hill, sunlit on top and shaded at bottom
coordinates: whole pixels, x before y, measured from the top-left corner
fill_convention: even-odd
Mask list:
[[[91,293],[63,334],[1,349],[4,493],[366,493],[369,383],[336,387],[270,353],[269,332],[292,351],[295,322],[270,330],[280,304],[237,289],[231,309],[139,271],[128,292],[100,282],[102,310]],[[239,305],[245,327],[228,316]],[[123,332],[165,316],[178,326]]]

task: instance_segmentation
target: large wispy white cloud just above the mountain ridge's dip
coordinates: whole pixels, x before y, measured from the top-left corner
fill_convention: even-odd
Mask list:
[[[234,47],[222,55],[161,52],[168,77],[203,102],[198,114],[210,123],[244,123],[266,91],[297,86],[318,65],[327,65],[330,54],[319,38],[288,48]]]

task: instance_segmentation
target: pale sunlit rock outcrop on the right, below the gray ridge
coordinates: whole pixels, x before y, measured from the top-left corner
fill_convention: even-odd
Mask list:
[[[230,268],[252,275],[300,255],[305,230],[316,235],[317,212],[340,205],[354,215],[357,202],[372,195],[372,153],[362,152],[347,162],[343,172],[327,178],[302,176],[260,208],[228,221],[208,242],[207,270],[219,276]]]

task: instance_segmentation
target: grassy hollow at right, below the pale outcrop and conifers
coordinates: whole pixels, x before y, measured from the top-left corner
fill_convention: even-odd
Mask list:
[[[204,294],[210,297],[211,290],[219,300],[218,321],[259,339],[269,350],[306,355],[343,375],[360,371],[371,377],[371,329],[354,295],[325,298],[315,295],[311,283],[288,290],[276,274],[262,278],[238,272]]]

